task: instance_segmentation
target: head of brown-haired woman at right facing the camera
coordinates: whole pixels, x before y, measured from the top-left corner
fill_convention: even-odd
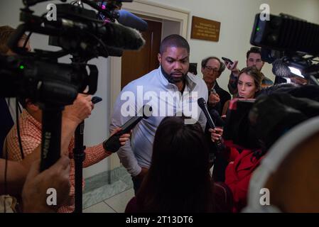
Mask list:
[[[239,98],[254,99],[261,89],[262,77],[256,67],[246,67],[240,71],[237,83]]]

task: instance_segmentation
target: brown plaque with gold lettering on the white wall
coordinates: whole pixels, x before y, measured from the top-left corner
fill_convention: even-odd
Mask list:
[[[220,40],[220,22],[193,16],[190,38],[218,42]]]

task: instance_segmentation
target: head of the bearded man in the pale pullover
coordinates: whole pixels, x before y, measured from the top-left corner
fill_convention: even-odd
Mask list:
[[[190,65],[190,45],[180,35],[168,35],[163,39],[158,61],[163,75],[172,84],[182,82]]]

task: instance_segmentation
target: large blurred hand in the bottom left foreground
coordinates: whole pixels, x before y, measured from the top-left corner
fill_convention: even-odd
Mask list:
[[[23,186],[23,212],[55,212],[70,192],[70,165],[69,158],[60,157],[60,160],[48,170],[39,172],[40,160],[33,162],[26,182]],[[56,190],[56,205],[48,206],[48,189]]]

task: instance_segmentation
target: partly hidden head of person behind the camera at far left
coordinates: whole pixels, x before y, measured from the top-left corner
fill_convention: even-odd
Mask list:
[[[2,55],[15,55],[15,53],[10,50],[7,43],[10,38],[10,35],[14,33],[16,29],[11,28],[10,26],[0,26],[0,53]],[[21,40],[18,42],[18,47],[23,48],[23,45],[26,42],[26,35],[23,35]],[[25,46],[27,51],[31,51],[30,42],[28,41]]]

